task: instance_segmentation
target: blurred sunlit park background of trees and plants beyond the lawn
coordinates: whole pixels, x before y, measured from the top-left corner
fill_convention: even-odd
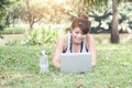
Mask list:
[[[0,45],[44,45],[87,13],[96,43],[132,43],[131,0],[0,0]]]

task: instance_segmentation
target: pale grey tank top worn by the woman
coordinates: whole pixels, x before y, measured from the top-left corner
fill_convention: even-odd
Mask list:
[[[80,53],[87,53],[87,52],[88,52],[88,50],[86,47],[86,40],[84,40],[82,43],[81,43]],[[72,53],[72,34],[68,34],[67,48],[64,53]]]

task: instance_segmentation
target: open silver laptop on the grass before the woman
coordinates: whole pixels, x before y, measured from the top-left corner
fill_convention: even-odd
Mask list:
[[[61,54],[62,73],[90,73],[91,54],[90,53],[62,53]]]

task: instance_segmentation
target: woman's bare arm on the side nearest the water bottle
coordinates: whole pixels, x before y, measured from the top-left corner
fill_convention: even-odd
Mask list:
[[[56,44],[55,52],[54,52],[54,55],[53,55],[52,64],[56,68],[61,68],[59,54],[63,53],[63,43],[64,43],[64,38],[61,37],[58,40],[57,44]]]

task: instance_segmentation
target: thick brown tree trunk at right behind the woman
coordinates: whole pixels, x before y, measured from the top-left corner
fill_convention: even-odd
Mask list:
[[[118,44],[120,38],[119,38],[119,31],[118,31],[118,0],[112,0],[112,10],[113,10],[113,15],[112,15],[112,29],[111,29],[111,43]]]

